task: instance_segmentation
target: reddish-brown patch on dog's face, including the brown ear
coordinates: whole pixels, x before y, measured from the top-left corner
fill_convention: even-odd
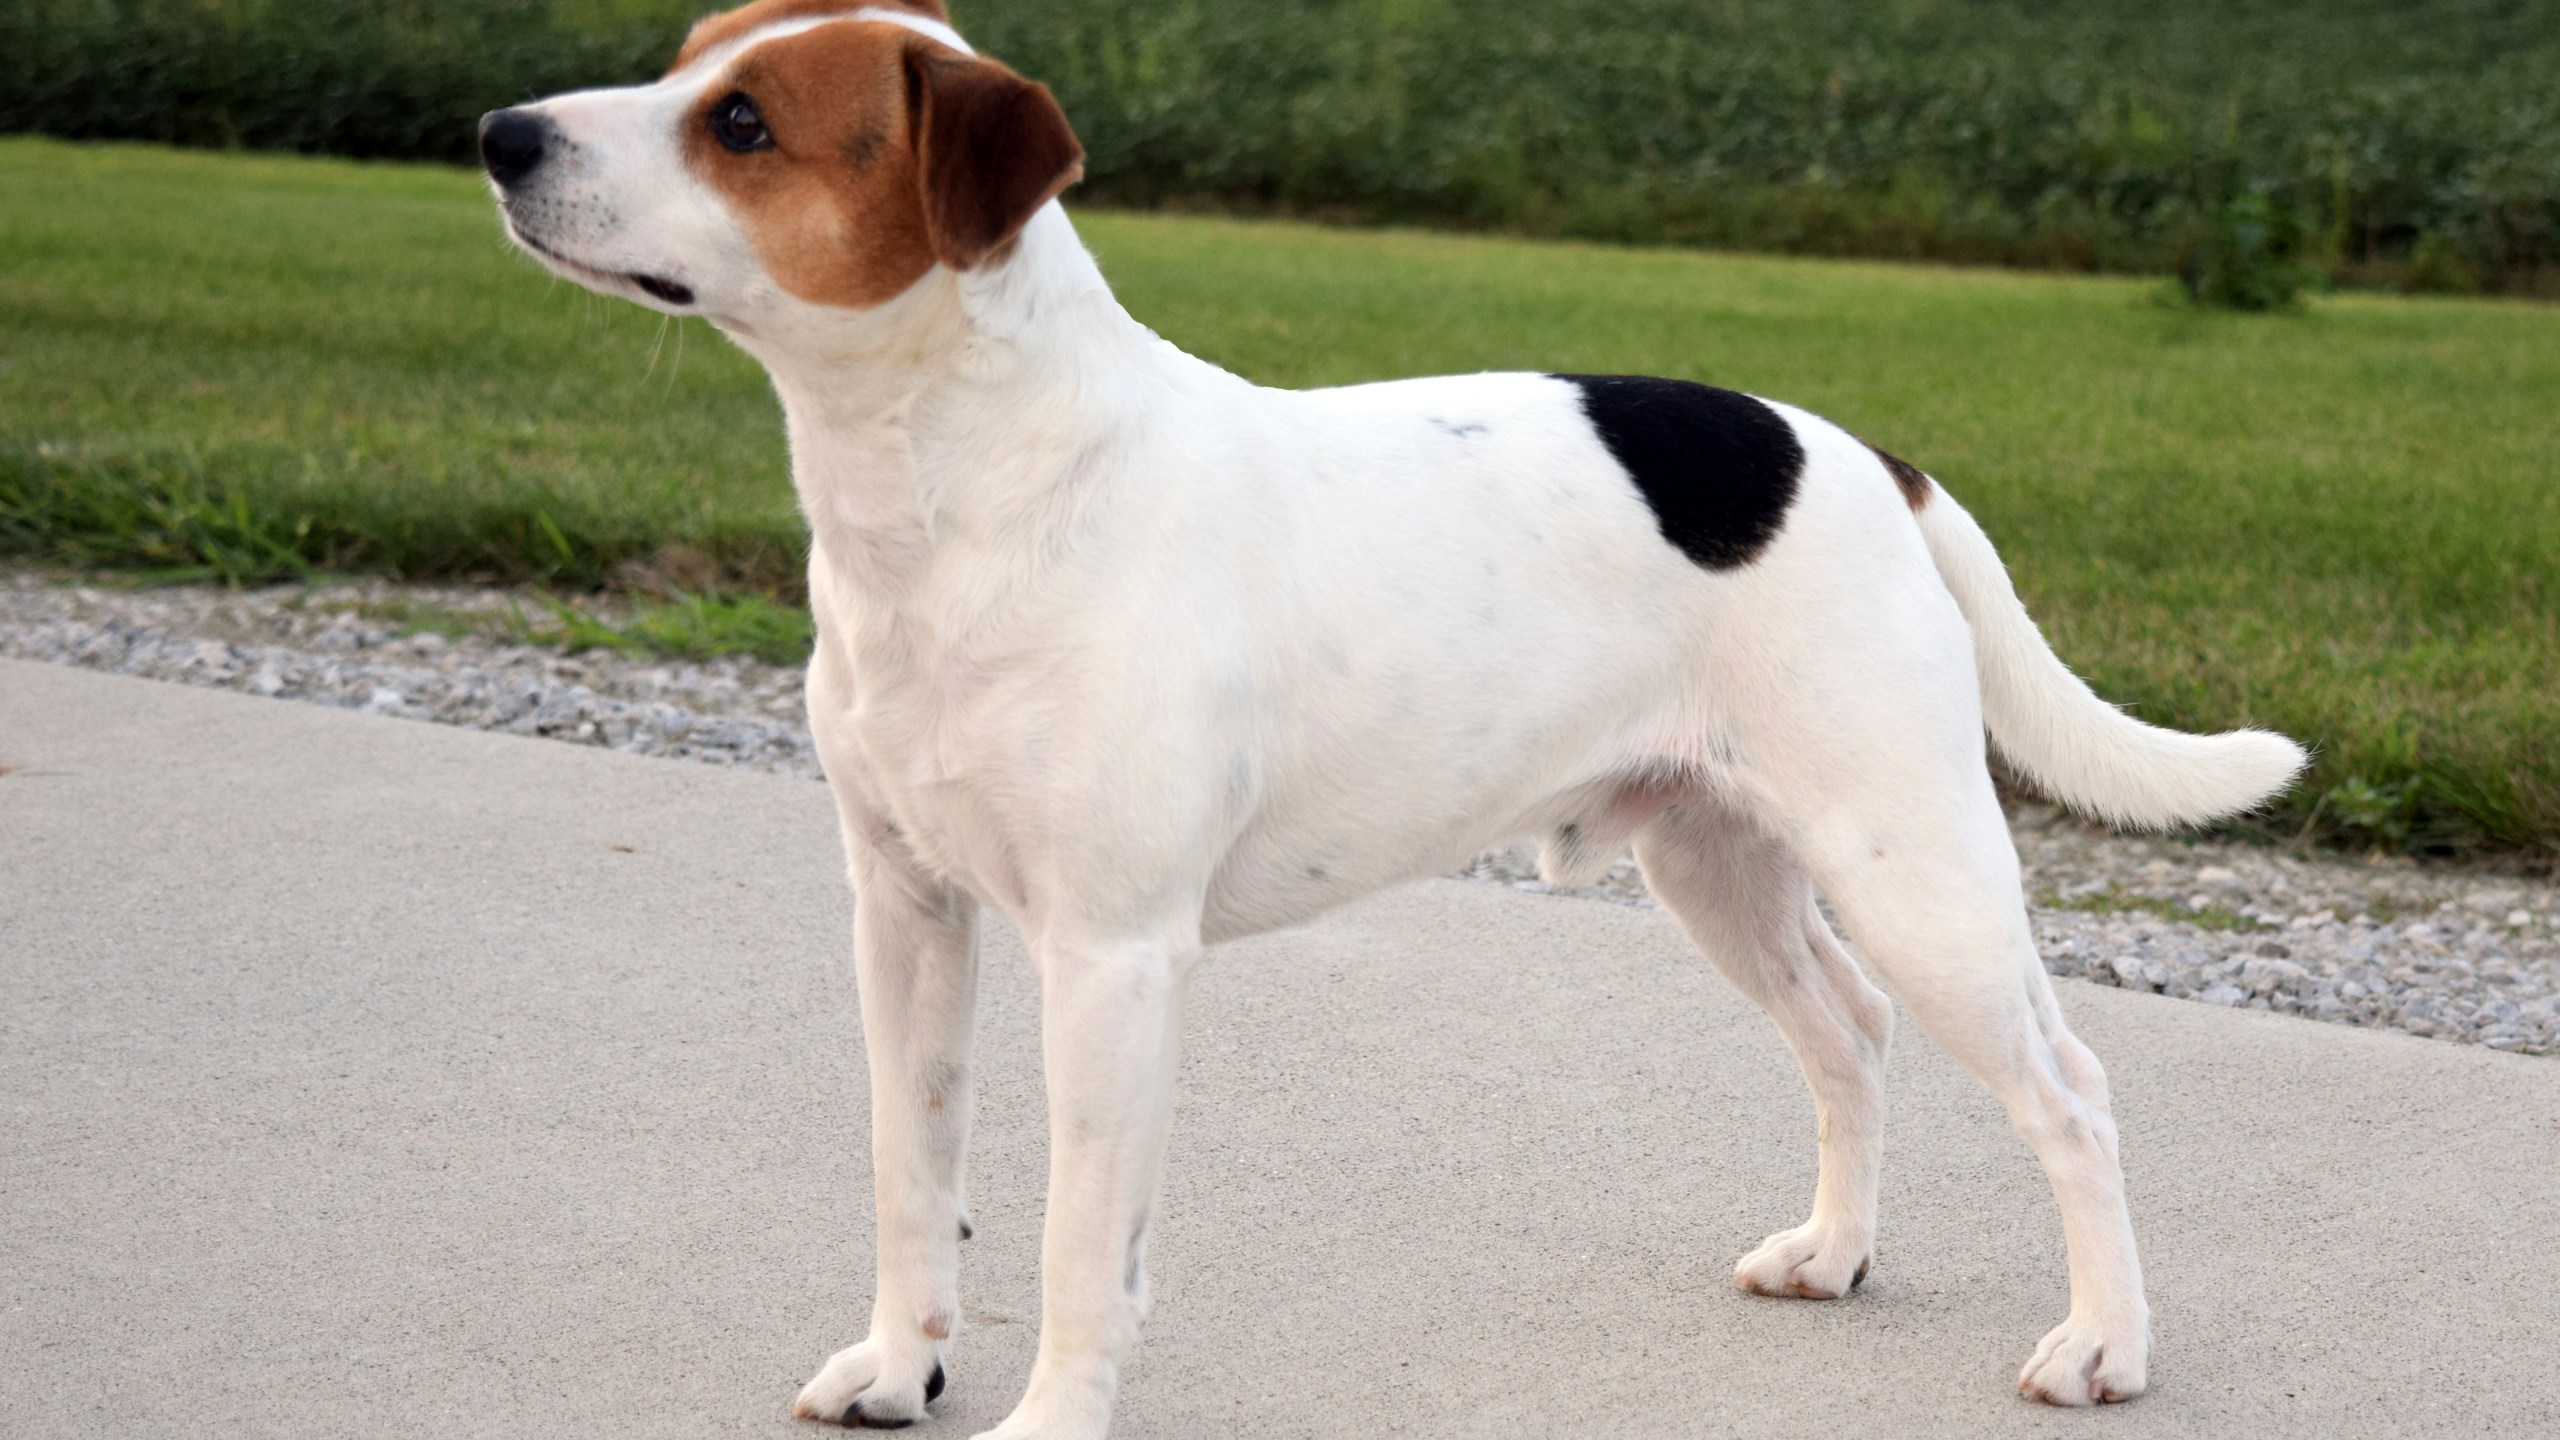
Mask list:
[[[758,120],[753,143],[737,115]],[[765,272],[819,305],[881,305],[937,261],[970,269],[1083,174],[1047,87],[888,20],[748,49],[684,126],[686,167]]]

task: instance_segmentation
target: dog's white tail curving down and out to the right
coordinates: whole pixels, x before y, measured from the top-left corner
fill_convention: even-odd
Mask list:
[[[1999,753],[2053,799],[2117,825],[2199,825],[2250,810],[2301,771],[2301,746],[2273,730],[2186,735],[2107,705],[2045,646],[1992,538],[1946,487],[1925,492],[1917,518],[1938,574],[1974,625],[1984,725]]]

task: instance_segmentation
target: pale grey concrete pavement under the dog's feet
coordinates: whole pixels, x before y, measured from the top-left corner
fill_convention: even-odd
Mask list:
[[[817,1435],[870,1179],[817,784],[0,661],[0,1432]],[[1812,1104],[1656,912],[1436,881],[1213,953],[1124,1437],[2560,1435],[2560,1066],[2063,984],[2153,1394],[2010,1391],[2061,1225],[1912,1027],[1838,1304],[1731,1286]],[[991,933],[968,1330],[1029,1366]]]

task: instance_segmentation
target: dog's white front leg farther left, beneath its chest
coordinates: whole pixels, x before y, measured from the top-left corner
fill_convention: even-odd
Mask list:
[[[896,1427],[942,1394],[942,1348],[960,1322],[963,1161],[970,1033],[978,1015],[978,904],[899,856],[855,851],[852,958],[870,1053],[870,1163],[878,1284],[870,1338],[837,1350],[791,1412]]]

